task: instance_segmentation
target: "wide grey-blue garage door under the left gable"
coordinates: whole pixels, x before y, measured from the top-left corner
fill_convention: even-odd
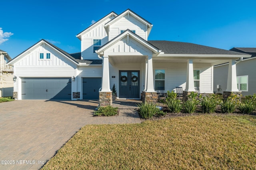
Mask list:
[[[71,78],[22,78],[22,99],[71,100]]]

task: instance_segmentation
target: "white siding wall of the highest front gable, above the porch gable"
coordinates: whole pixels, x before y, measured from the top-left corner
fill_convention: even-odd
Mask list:
[[[146,25],[138,21],[133,16],[124,16],[120,20],[113,23],[110,27],[109,41],[120,34],[121,30],[135,30],[135,33],[147,41],[146,37]]]

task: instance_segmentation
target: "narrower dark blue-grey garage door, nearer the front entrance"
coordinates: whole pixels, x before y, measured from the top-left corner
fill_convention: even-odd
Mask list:
[[[99,99],[101,78],[83,78],[83,99]]]

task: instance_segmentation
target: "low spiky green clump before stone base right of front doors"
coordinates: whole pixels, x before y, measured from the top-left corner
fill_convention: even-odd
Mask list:
[[[139,107],[138,112],[142,116],[142,118],[148,119],[152,118],[154,115],[162,114],[163,111],[161,111],[158,107],[156,107],[156,104],[148,104],[147,102],[144,102],[142,104],[137,104]]]

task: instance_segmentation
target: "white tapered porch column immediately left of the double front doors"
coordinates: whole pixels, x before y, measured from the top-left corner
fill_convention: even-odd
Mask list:
[[[110,92],[109,62],[108,55],[104,55],[102,60],[102,89],[101,92]]]

